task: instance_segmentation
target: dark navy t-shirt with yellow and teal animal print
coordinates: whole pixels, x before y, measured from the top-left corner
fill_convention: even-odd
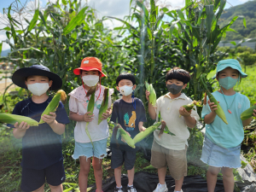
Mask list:
[[[139,133],[138,123],[140,121],[146,122],[146,112],[143,102],[134,98],[134,102],[125,102],[123,99],[119,99],[113,102],[113,112],[111,116],[111,121],[116,123],[118,118],[118,123],[124,128],[125,131],[129,132],[131,138],[135,137]],[[118,147],[119,145],[119,147]],[[137,150],[137,148],[131,148],[129,145],[121,141],[121,136],[116,140],[113,136],[111,138],[111,147],[122,148],[124,150]]]

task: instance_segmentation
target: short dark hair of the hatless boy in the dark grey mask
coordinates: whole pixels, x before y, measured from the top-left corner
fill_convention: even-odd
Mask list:
[[[183,84],[188,84],[191,76],[186,70],[179,67],[173,67],[169,72],[166,73],[166,82],[171,79],[177,79],[182,81]]]

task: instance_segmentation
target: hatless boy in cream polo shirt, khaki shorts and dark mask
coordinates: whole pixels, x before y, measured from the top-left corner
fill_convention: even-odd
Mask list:
[[[151,119],[156,119],[158,114],[166,121],[169,130],[175,136],[163,133],[158,137],[159,131],[154,131],[154,143],[151,149],[151,165],[158,169],[159,183],[154,192],[168,191],[165,183],[166,167],[169,167],[171,176],[175,179],[174,192],[183,191],[184,176],[187,176],[187,148],[189,128],[196,125],[199,115],[196,108],[187,111],[183,105],[192,102],[188,96],[182,93],[189,83],[190,75],[187,71],[174,67],[166,74],[166,87],[169,92],[157,99],[155,107],[148,102],[148,113]],[[146,91],[146,97],[150,93]]]

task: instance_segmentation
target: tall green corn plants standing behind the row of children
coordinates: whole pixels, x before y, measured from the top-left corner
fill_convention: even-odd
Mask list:
[[[154,0],[131,0],[131,15],[120,20],[110,16],[98,19],[95,10],[86,4],[62,0],[48,3],[45,9],[35,9],[32,20],[26,20],[26,27],[13,17],[11,4],[4,9],[8,25],[2,29],[7,37],[4,43],[9,44],[11,53],[1,60],[11,61],[16,67],[43,64],[61,76],[62,89],[69,93],[81,84],[73,69],[79,67],[84,57],[95,56],[108,75],[102,84],[114,88],[119,73],[133,73],[137,79],[135,94],[145,106],[144,82],[153,84],[159,97],[166,93],[166,72],[181,67],[192,76],[185,94],[201,100],[204,92],[199,78],[202,73],[211,72],[226,55],[217,51],[217,45],[238,18],[218,26],[225,3],[186,0],[183,9],[168,9],[160,8]],[[167,22],[165,17],[172,21]],[[112,31],[104,26],[104,20],[119,20],[122,26]],[[211,79],[207,81],[209,90],[212,83]],[[147,123],[152,124],[150,120]]]

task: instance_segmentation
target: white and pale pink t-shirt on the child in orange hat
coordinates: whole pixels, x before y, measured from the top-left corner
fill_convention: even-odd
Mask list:
[[[98,100],[95,103],[94,106],[94,119],[90,121],[88,125],[88,131],[90,133],[91,140],[93,142],[100,141],[104,138],[108,137],[108,122],[106,120],[102,120],[100,125],[98,125],[98,116],[99,116],[99,109],[102,105],[103,100],[103,94],[104,94],[105,88],[101,85],[101,88],[96,90],[95,93],[95,101],[98,98]],[[108,91],[108,108],[111,107],[112,101],[111,101],[111,95],[113,94],[113,89],[109,89]],[[69,99],[69,110],[73,113],[77,113],[79,115],[83,115],[87,112],[87,105],[90,100],[90,97],[87,98],[85,95],[84,87],[79,86],[77,89],[73,90],[71,93],[68,94],[70,96]],[[74,139],[76,142],[79,143],[90,143],[90,138],[87,136],[85,132],[85,121],[78,121],[75,129],[74,129]]]

